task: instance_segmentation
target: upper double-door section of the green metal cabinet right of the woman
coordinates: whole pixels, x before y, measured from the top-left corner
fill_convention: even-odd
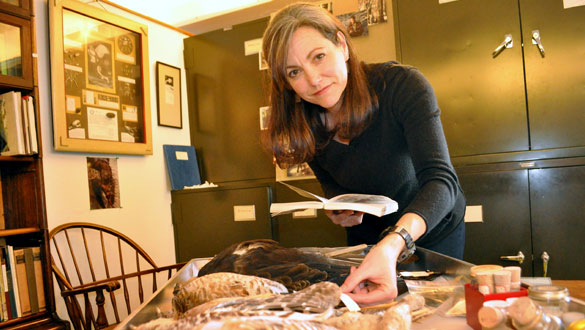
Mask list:
[[[455,161],[585,146],[585,6],[563,4],[395,1],[398,57],[433,84]],[[494,56],[506,36],[510,48]],[[582,148],[563,153],[585,155]]]

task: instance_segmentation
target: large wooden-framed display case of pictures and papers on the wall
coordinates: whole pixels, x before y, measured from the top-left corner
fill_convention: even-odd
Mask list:
[[[49,5],[55,149],[151,155],[147,26],[79,1]]]

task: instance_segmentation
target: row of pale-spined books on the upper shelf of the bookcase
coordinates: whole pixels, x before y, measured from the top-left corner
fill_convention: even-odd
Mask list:
[[[0,94],[0,155],[38,152],[34,98],[17,91]]]

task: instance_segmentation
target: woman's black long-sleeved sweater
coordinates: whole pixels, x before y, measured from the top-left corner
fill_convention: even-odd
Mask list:
[[[427,224],[417,245],[436,243],[463,221],[465,198],[451,165],[433,88],[415,68],[395,62],[364,66],[379,108],[349,145],[331,140],[309,165],[327,197],[342,193],[388,196],[398,212],[365,214],[347,228],[348,244],[375,244],[386,227],[413,212]]]

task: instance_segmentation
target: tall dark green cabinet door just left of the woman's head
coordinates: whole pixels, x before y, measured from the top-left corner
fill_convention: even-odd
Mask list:
[[[267,105],[263,71],[258,52],[245,46],[262,38],[267,23],[262,19],[185,39],[191,143],[201,159],[202,180],[274,178],[272,155],[260,144],[260,107]]]

